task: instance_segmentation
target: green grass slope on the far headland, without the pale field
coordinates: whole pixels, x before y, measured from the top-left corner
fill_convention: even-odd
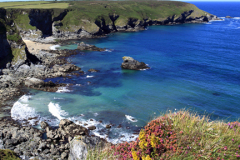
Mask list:
[[[97,26],[89,26],[87,21],[101,24],[102,19],[104,19],[106,25],[111,25],[110,15],[119,16],[115,21],[115,25],[119,26],[126,25],[129,19],[161,21],[173,15],[179,17],[189,10],[194,10],[194,16],[205,15],[204,11],[192,4],[173,1],[78,1],[70,2],[69,9],[72,9],[72,11],[68,12],[62,20],[63,26],[59,28],[60,30],[77,31],[80,29],[78,26],[89,28],[89,31],[97,30]]]

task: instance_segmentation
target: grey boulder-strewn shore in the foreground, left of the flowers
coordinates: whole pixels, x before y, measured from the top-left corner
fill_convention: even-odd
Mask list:
[[[89,136],[88,130],[63,119],[57,129],[46,122],[42,129],[21,126],[10,117],[0,119],[0,149],[10,149],[23,160],[85,159],[87,150],[110,145],[99,137]],[[87,147],[86,147],[87,146]]]

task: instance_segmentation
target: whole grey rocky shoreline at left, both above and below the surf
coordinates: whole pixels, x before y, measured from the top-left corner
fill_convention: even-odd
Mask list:
[[[1,108],[12,106],[16,98],[27,94],[27,88],[56,92],[59,87],[67,84],[45,82],[44,79],[84,74],[81,68],[68,62],[67,57],[81,54],[85,50],[105,50],[85,43],[81,43],[80,47],[85,48],[37,50],[31,52],[37,60],[35,63],[26,62],[17,68],[8,64],[1,70],[0,75]],[[98,70],[89,69],[89,72]],[[9,107],[6,112],[11,111]],[[99,137],[89,136],[89,131],[94,129],[94,126],[84,128],[69,120],[61,120],[58,128],[51,128],[46,122],[41,122],[42,129],[36,129],[31,125],[22,126],[11,117],[4,117],[0,118],[0,126],[0,149],[10,149],[23,160],[85,159],[89,148],[108,144]]]

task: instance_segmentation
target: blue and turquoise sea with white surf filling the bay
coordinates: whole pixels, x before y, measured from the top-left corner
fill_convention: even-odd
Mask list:
[[[34,115],[53,126],[63,118],[96,125],[91,134],[114,143],[133,140],[134,133],[168,110],[187,109],[212,120],[238,120],[240,3],[192,3],[223,21],[151,26],[140,32],[79,40],[108,50],[69,57],[85,74],[51,79],[73,84],[57,93],[31,90],[31,95],[15,103],[12,117],[23,120]],[[235,18],[225,19],[227,15]],[[76,48],[76,44],[60,47]],[[122,70],[123,56],[143,61],[151,69]],[[90,68],[100,72],[89,73]],[[106,124],[112,128],[105,129]]]

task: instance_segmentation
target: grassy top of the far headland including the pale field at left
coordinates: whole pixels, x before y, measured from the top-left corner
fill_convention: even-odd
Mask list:
[[[73,9],[81,11],[89,18],[95,17],[99,13],[128,16],[131,14],[134,18],[151,17],[153,19],[173,14],[179,15],[189,10],[197,10],[198,14],[203,14],[203,11],[196,6],[177,1],[2,2],[0,3],[1,7],[5,9]]]

